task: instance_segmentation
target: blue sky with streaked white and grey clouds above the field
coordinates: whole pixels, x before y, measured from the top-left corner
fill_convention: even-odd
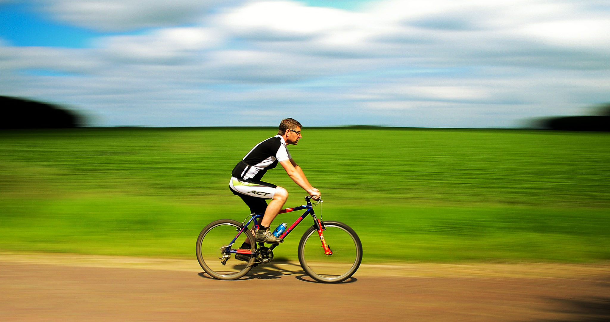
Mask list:
[[[610,102],[610,2],[0,0],[0,95],[104,127],[523,127]]]

